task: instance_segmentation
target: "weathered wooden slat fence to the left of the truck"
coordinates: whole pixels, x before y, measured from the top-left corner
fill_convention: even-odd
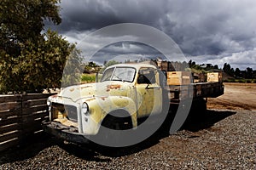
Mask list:
[[[0,151],[19,145],[42,131],[48,118],[46,99],[52,94],[0,96]]]

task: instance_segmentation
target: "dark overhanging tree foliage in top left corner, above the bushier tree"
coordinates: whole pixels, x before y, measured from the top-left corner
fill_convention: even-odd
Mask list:
[[[7,54],[20,54],[20,43],[38,42],[42,38],[44,20],[61,23],[59,0],[1,0],[1,47]]]

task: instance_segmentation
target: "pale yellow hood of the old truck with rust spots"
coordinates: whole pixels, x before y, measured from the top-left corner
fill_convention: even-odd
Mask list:
[[[97,96],[129,96],[130,94],[131,82],[106,81],[67,87],[57,96],[72,99],[73,102],[76,102],[79,99]]]

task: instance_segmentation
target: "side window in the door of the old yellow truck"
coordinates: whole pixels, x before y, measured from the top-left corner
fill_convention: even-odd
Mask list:
[[[142,68],[138,73],[137,83],[138,84],[154,84],[155,83],[154,69]]]

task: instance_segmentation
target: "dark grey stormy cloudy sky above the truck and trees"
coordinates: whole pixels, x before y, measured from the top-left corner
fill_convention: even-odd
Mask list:
[[[223,67],[256,70],[256,1],[254,0],[62,0],[58,31],[90,51],[99,41],[83,42],[91,32],[120,23],[152,26],[171,37],[187,59]],[[112,37],[96,37],[104,42]],[[116,38],[116,37],[113,37]],[[83,45],[81,45],[83,44]],[[97,55],[152,57],[159,51],[137,42],[119,42]]]

